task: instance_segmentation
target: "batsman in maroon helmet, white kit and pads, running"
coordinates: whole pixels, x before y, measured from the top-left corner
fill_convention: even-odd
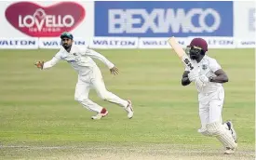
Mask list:
[[[192,65],[192,72],[185,68],[182,75],[182,86],[191,82],[195,83],[198,91],[199,116],[201,128],[198,132],[205,136],[213,136],[220,140],[225,147],[226,154],[234,154],[236,143],[236,131],[231,121],[222,124],[222,106],[224,101],[224,89],[222,83],[228,82],[227,74],[221,65],[206,55],[208,44],[202,38],[195,38],[187,47]]]

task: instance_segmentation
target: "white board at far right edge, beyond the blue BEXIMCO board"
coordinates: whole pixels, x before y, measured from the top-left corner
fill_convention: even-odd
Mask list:
[[[234,35],[236,39],[255,40],[255,1],[234,2]]]

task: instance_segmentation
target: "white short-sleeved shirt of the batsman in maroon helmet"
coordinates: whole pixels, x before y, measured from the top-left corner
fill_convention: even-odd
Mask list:
[[[205,55],[204,58],[197,63],[196,60],[191,60],[193,66],[197,68],[199,76],[205,74],[207,77],[215,77],[215,72],[222,69],[221,65],[217,62],[217,60],[210,58]],[[185,68],[185,71],[189,71],[188,68]],[[197,87],[198,91],[198,100],[207,100],[210,97],[214,96],[219,90],[223,89],[221,83],[209,82],[206,87],[200,89]]]

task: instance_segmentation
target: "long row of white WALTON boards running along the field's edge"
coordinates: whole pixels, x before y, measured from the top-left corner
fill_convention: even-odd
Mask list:
[[[177,37],[178,43],[185,48],[194,37]],[[203,37],[209,48],[256,48],[254,39],[235,39],[234,37]],[[74,38],[74,44],[79,47],[102,48],[102,49],[128,49],[128,48],[171,48],[168,38],[136,38],[136,37],[93,37],[85,39]],[[59,49],[60,38],[0,38],[0,49]]]

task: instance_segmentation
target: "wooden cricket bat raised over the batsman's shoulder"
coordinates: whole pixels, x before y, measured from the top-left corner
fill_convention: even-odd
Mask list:
[[[174,36],[168,39],[168,44],[174,49],[175,53],[179,56],[185,66],[192,71],[194,70],[194,66],[191,63],[190,58],[187,56],[182,46],[176,41]]]

